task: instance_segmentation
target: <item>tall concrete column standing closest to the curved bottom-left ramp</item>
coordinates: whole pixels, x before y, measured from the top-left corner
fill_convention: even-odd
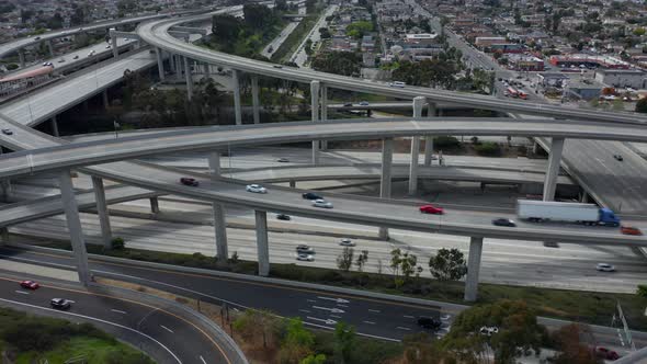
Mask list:
[[[72,252],[77,263],[77,272],[79,273],[79,281],[82,285],[87,286],[90,283],[91,276],[90,270],[88,269],[88,253],[86,251],[86,242],[83,241],[83,230],[81,228],[79,207],[72,187],[70,171],[66,170],[60,172],[58,180],[60,183],[60,200],[63,202],[63,209],[65,211]]]

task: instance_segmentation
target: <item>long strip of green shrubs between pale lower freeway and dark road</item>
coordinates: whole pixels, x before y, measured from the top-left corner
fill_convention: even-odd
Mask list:
[[[66,250],[71,249],[69,242],[52,242],[44,246]],[[88,252],[243,274],[257,274],[258,269],[257,262],[238,260],[236,263],[225,263],[201,253],[180,254],[129,248],[103,251],[101,246],[94,244],[88,244]],[[429,274],[429,271],[425,270],[424,274]],[[463,304],[463,282],[439,282],[420,277],[396,288],[390,274],[341,272],[296,264],[271,264],[270,276]],[[645,307],[647,307],[647,298],[634,294],[479,284],[478,303],[488,304],[502,298],[525,300],[529,307],[535,309],[540,316],[603,326],[611,322],[616,302],[620,302],[627,320],[632,322],[631,328],[634,330],[647,330],[647,317],[643,315]]]

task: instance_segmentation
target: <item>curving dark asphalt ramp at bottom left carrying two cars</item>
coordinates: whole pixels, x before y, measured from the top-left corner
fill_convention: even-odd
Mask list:
[[[7,250],[2,250],[7,253]],[[34,276],[23,277],[23,280]],[[163,307],[117,298],[101,288],[42,281],[36,291],[21,288],[13,274],[0,272],[0,305],[42,316],[93,323],[135,346],[144,345],[158,363],[231,363],[218,338],[211,338],[192,322]],[[69,310],[54,309],[52,298],[72,300]]]

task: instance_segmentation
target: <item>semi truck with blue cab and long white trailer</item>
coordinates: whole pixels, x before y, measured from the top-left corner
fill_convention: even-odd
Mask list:
[[[566,221],[583,225],[620,226],[620,218],[593,204],[552,201],[517,201],[517,216],[529,221]]]

